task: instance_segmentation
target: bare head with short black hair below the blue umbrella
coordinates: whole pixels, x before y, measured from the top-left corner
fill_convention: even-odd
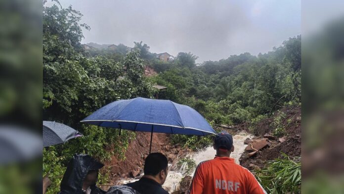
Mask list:
[[[143,172],[145,176],[152,176],[161,185],[165,183],[168,173],[168,160],[162,153],[150,153],[145,161]]]

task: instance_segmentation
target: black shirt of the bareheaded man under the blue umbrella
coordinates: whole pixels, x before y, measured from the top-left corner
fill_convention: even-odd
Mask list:
[[[127,186],[138,191],[140,194],[169,194],[159,183],[145,177],[142,177],[136,182],[129,183]]]

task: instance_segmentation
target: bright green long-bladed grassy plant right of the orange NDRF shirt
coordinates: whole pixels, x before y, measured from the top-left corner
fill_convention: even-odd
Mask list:
[[[258,181],[271,194],[300,194],[301,158],[282,155],[283,159],[269,161],[267,167],[256,173]]]

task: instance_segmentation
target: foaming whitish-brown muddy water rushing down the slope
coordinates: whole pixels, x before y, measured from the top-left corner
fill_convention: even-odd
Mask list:
[[[252,137],[253,137],[252,135],[244,133],[244,132],[233,136],[234,152],[231,153],[231,157],[235,159],[235,162],[237,164],[239,164],[239,158],[241,154],[244,152],[244,149],[246,147],[246,145],[244,145],[244,141],[246,140],[246,138],[252,138]],[[204,150],[189,153],[186,157],[193,159],[197,166],[202,161],[214,159],[215,154],[216,154],[216,151],[214,150],[213,146],[209,146]],[[171,165],[172,164],[169,164],[169,169],[171,169]],[[193,176],[195,172],[195,168],[189,170],[189,172],[187,172],[187,170],[188,170],[188,167],[186,163],[184,163],[183,165],[181,165],[181,167],[178,170],[169,171],[168,177],[166,178],[166,182],[163,185],[164,189],[166,189],[169,193],[178,191],[179,183],[181,179],[187,175]],[[126,179],[126,180],[122,180],[122,184],[130,183],[134,181],[137,181],[137,179]]]

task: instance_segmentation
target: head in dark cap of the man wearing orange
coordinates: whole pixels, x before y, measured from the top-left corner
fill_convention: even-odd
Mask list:
[[[216,156],[229,157],[230,153],[234,151],[232,135],[225,131],[216,134],[214,149],[216,150]]]

